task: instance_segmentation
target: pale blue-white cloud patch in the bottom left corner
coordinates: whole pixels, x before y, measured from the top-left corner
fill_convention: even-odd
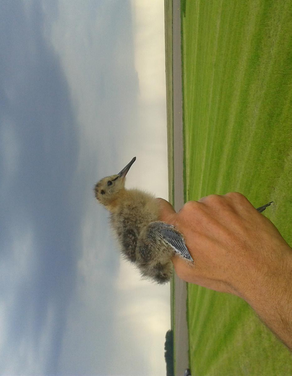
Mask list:
[[[3,374],[37,374],[43,371],[42,362],[35,351],[33,337],[30,336],[31,322],[27,322],[27,330],[17,343],[13,346],[10,343],[9,329],[11,329],[11,315],[18,304],[20,288],[29,284],[34,270],[32,260],[35,259],[35,248],[33,244],[33,232],[29,226],[16,230],[9,255],[2,258],[0,274],[2,280],[1,306],[1,329],[0,358],[5,369]],[[7,250],[6,250],[7,251]],[[26,312],[27,314],[27,312]],[[5,359],[4,359],[5,358]]]

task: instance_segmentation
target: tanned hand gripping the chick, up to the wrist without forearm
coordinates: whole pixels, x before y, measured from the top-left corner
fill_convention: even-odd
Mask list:
[[[240,193],[190,201],[178,213],[163,199],[159,204],[160,219],[184,235],[194,260],[172,260],[187,282],[249,299],[259,279],[274,275],[290,256],[274,224]]]

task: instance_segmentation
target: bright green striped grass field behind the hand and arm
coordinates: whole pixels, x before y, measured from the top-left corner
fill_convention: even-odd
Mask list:
[[[292,245],[291,0],[182,3],[186,199],[243,193]],[[237,297],[188,286],[194,376],[292,375]]]

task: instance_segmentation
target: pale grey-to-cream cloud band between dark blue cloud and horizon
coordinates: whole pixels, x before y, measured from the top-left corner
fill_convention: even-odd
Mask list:
[[[100,346],[110,337],[115,355],[107,355],[111,374],[120,370],[134,375],[137,369],[143,376],[161,374],[170,327],[169,285],[141,281],[138,272],[120,259],[117,274],[105,266],[106,260],[119,258],[119,250],[109,240],[107,214],[92,199],[89,185],[90,179],[93,185],[137,156],[127,186],[168,196],[163,2],[131,2],[132,35],[116,29],[119,14],[112,11],[117,2],[100,2],[98,11],[90,9],[92,4],[97,3],[60,0],[58,20],[52,33],[48,29],[78,114],[78,174],[87,171],[88,179],[78,297],[70,309],[60,369],[73,372],[74,364],[83,361],[88,362],[87,373],[96,373]],[[140,90],[135,86],[137,75]],[[93,173],[96,176],[90,177]],[[104,307],[113,309],[108,317]],[[89,343],[93,355],[85,353]]]

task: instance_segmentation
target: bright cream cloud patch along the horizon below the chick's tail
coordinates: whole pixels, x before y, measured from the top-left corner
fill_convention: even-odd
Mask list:
[[[129,347],[134,343],[140,359],[147,359],[148,373],[143,369],[141,374],[164,374],[164,341],[170,329],[169,285],[158,286],[141,280],[138,271],[122,261],[117,290],[119,309],[115,328],[118,337]],[[120,356],[130,362],[131,354],[126,349],[120,349]],[[126,368],[123,371],[125,373]]]

